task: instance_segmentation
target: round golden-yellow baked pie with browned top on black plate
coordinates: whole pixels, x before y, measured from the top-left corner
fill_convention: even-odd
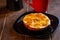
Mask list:
[[[43,13],[30,13],[24,16],[23,23],[29,30],[40,30],[50,25],[50,19]]]

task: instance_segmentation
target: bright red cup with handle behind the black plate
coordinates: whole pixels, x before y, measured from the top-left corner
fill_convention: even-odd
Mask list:
[[[27,4],[34,8],[36,12],[46,12],[48,7],[48,0],[32,0],[32,3],[29,0],[24,0]]]

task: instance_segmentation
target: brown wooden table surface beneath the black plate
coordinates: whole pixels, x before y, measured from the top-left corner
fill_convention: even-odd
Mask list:
[[[23,36],[13,29],[14,22],[25,12],[26,9],[24,8],[19,11],[9,11],[6,8],[0,9],[0,40],[51,40],[50,37],[48,39],[36,39]],[[48,13],[57,16],[60,20],[60,0],[51,1],[48,7]],[[57,29],[52,34],[52,40],[60,40],[59,34],[60,22]]]

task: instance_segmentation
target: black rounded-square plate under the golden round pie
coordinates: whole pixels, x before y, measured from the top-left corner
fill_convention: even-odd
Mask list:
[[[44,30],[39,30],[39,31],[31,31],[28,30],[23,22],[22,19],[25,15],[29,14],[29,13],[36,13],[34,11],[31,12],[26,12],[23,15],[21,15],[16,22],[14,23],[14,30],[20,34],[24,34],[24,35],[29,35],[29,36],[33,36],[33,37],[46,37],[46,35],[50,35],[51,33],[53,33],[55,31],[55,29],[58,26],[59,20],[56,16],[53,16],[51,14],[47,14],[47,13],[43,13],[45,15],[47,15],[50,20],[51,20],[51,25],[49,25],[46,29]]]

